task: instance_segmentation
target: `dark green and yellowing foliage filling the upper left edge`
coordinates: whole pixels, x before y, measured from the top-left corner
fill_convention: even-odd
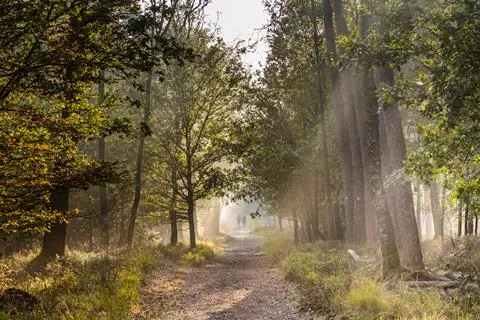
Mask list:
[[[130,1],[7,1],[0,4],[0,232],[42,232],[64,213],[48,208],[57,188],[115,178],[112,164],[79,142],[109,126],[92,86]]]

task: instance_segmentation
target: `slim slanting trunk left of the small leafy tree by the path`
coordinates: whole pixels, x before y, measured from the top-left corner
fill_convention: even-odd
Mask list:
[[[143,122],[141,124],[140,137],[138,142],[137,161],[135,166],[135,194],[133,198],[132,210],[130,212],[130,221],[128,223],[127,243],[133,246],[133,237],[135,233],[135,223],[137,220],[138,206],[142,193],[142,169],[143,169],[143,153],[145,149],[145,140],[148,135],[148,123],[150,120],[151,103],[152,103],[152,80],[153,69],[150,70],[145,86],[145,107],[143,110]]]

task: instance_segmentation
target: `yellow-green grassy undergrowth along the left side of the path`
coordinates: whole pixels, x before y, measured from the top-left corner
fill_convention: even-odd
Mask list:
[[[0,260],[0,292],[15,287],[36,296],[40,303],[30,312],[0,311],[0,320],[133,319],[140,305],[140,288],[159,259],[172,267],[199,266],[214,258],[212,246],[143,247],[112,255],[69,252],[39,272],[38,252]]]

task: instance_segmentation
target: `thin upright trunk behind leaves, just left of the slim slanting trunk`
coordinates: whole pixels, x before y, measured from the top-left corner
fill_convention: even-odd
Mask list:
[[[105,102],[105,71],[100,72],[100,82],[98,83],[98,104]],[[105,137],[98,138],[98,160],[105,161]],[[109,214],[108,214],[108,199],[107,199],[107,186],[100,185],[98,188],[99,197],[99,209],[100,209],[100,239],[102,241],[102,247],[108,250],[110,245],[110,226],[109,226]]]

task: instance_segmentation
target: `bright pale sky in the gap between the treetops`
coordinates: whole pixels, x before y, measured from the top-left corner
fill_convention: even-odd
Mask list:
[[[206,14],[212,22],[216,22],[218,16],[223,38],[229,44],[236,40],[253,44],[265,35],[260,29],[267,23],[268,16],[262,0],[212,0]],[[260,41],[255,51],[247,54],[245,63],[259,69],[259,63],[265,62],[266,51],[267,45]]]

